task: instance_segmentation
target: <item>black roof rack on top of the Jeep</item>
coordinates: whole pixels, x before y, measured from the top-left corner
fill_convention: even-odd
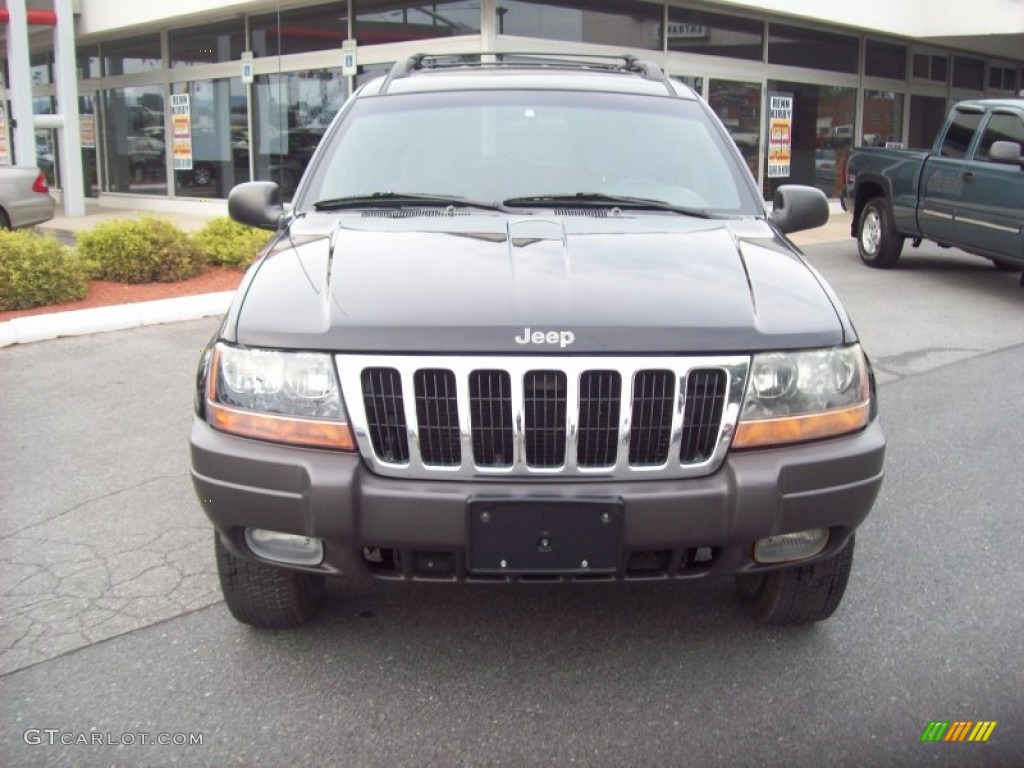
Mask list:
[[[606,55],[601,53],[536,53],[510,52],[495,53],[415,53],[408,58],[398,60],[381,85],[380,93],[387,93],[391,83],[411,76],[414,72],[423,70],[447,69],[501,69],[504,67],[516,69],[538,70],[589,70],[599,72],[632,73],[643,76],[646,80],[665,85],[672,96],[675,89],[669,82],[662,68],[653,61],[639,58],[631,54]]]

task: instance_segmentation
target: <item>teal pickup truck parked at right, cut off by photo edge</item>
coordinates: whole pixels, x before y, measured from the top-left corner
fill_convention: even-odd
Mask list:
[[[1024,268],[1022,145],[1024,99],[1006,98],[957,103],[931,152],[855,150],[843,202],[860,258],[894,266],[910,238]]]

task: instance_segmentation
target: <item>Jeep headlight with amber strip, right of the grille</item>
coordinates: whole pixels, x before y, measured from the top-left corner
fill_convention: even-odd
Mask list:
[[[867,424],[860,345],[754,355],[733,447],[834,437]]]

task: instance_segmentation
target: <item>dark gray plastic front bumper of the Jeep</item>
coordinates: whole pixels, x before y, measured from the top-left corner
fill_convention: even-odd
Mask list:
[[[481,497],[621,500],[622,563],[606,578],[768,569],[753,560],[757,540],[826,527],[828,544],[812,558],[821,559],[866,517],[884,458],[874,420],[841,438],[733,452],[718,472],[695,479],[465,482],[381,477],[355,454],[234,437],[198,417],[191,428],[193,482],[237,556],[258,560],[245,528],[268,528],[324,541],[319,565],[289,567],[398,579],[473,579],[466,570],[467,515],[470,501]]]

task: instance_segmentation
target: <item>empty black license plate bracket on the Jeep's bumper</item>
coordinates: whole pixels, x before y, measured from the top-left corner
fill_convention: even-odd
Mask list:
[[[614,573],[621,499],[472,499],[466,565],[481,574]]]

